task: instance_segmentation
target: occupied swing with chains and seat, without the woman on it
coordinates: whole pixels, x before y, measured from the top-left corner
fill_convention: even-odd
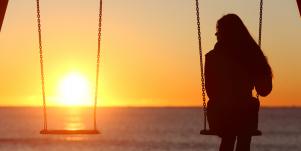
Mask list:
[[[200,68],[201,68],[201,87],[202,87],[202,98],[203,98],[203,112],[204,112],[204,129],[200,131],[201,135],[218,135],[216,131],[207,129],[207,104],[205,96],[205,80],[204,80],[204,69],[202,59],[202,45],[201,45],[201,30],[200,30],[200,14],[199,14],[199,1],[195,1],[196,4],[196,17],[197,17],[197,29],[198,29],[198,44],[200,54]],[[258,45],[261,47],[261,31],[262,31],[262,11],[263,11],[263,0],[260,0],[260,16],[259,16],[259,37]],[[258,95],[257,95],[258,97]],[[260,136],[262,133],[260,130],[255,130],[251,133],[252,136]]]

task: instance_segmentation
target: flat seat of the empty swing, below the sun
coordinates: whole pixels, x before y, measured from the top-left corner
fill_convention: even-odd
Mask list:
[[[41,130],[40,134],[72,135],[72,134],[100,134],[98,130]]]

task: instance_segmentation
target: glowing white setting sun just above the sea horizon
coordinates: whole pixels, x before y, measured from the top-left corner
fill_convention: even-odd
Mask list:
[[[58,103],[65,106],[86,106],[92,104],[88,80],[79,73],[65,76],[59,83]]]

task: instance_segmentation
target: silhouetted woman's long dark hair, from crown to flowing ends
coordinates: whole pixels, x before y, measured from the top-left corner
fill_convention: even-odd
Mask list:
[[[236,14],[227,14],[219,19],[217,31],[220,36],[218,43],[227,48],[225,53],[245,64],[254,76],[264,74],[272,77],[271,67],[261,48]]]

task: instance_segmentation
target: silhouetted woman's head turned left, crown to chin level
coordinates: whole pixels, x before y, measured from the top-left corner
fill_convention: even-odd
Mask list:
[[[227,14],[217,21],[216,36],[219,42],[232,44],[255,42],[242,20],[236,14]]]

